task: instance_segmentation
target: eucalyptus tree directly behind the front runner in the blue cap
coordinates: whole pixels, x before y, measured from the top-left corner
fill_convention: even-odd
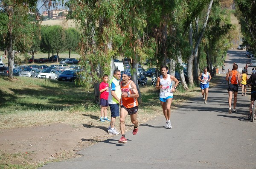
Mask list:
[[[145,33],[147,3],[137,0],[120,0],[122,2],[122,23],[121,30],[125,35],[125,42],[122,47],[122,53],[132,62],[132,80],[137,84],[137,69],[139,62],[154,56],[155,41],[154,38]],[[139,90],[139,87],[138,87]],[[140,90],[139,90],[140,95]]]

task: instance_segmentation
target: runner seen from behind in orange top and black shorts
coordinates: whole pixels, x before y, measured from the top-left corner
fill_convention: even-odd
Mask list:
[[[226,80],[229,81],[229,85],[227,88],[228,91],[228,113],[232,113],[231,110],[231,102],[232,102],[232,95],[234,93],[234,104],[233,104],[233,111],[236,112],[236,101],[237,101],[237,93],[238,93],[238,85],[241,86],[240,82],[240,73],[237,71],[238,65],[233,65],[233,70],[229,71],[226,76]]]

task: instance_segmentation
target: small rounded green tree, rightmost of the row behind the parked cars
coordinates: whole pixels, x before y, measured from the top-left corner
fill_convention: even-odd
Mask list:
[[[65,30],[66,44],[65,48],[68,49],[68,57],[70,58],[70,52],[76,50],[80,41],[80,34],[75,28],[68,28]]]

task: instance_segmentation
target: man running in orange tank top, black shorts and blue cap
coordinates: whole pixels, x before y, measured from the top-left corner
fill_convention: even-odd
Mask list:
[[[124,72],[122,75],[122,82],[120,82],[122,99],[121,99],[121,110],[120,110],[120,130],[122,137],[118,143],[127,143],[125,138],[125,118],[130,115],[131,122],[134,124],[133,135],[138,132],[139,121],[137,120],[138,115],[138,101],[139,93],[135,83],[131,80],[131,73]]]

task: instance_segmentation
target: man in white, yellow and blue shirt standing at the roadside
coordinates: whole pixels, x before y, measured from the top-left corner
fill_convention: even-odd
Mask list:
[[[118,132],[115,129],[116,117],[119,117],[119,104],[121,103],[121,87],[119,84],[119,80],[121,78],[121,71],[116,69],[113,72],[113,78],[109,84],[109,90],[111,91],[108,96],[108,104],[111,111],[111,121],[110,126],[108,127],[108,133],[113,135],[118,135]]]

